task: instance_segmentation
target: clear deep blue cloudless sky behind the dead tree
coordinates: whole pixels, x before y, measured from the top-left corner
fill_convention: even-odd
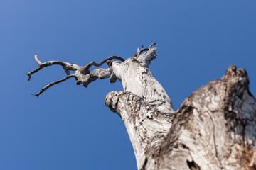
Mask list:
[[[0,0],[0,169],[137,169],[122,120],[104,104],[122,85],[85,89],[69,79],[36,98],[65,72],[47,67],[28,83],[34,55],[85,65],[157,42],[150,69],[175,109],[231,64],[247,69],[255,95],[255,8],[255,0]]]

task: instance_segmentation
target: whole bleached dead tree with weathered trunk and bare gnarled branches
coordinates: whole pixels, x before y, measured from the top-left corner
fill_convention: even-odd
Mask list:
[[[111,56],[85,67],[68,62],[41,63],[38,69],[61,65],[67,77],[87,87],[96,79],[122,82],[124,91],[111,91],[105,104],[123,120],[132,142],[138,169],[256,169],[256,100],[249,91],[245,69],[228,67],[221,79],[194,91],[174,111],[164,88],[149,71],[156,48],[138,48],[127,60]],[[117,61],[119,60],[119,61]],[[107,69],[94,69],[107,63]],[[75,74],[70,74],[70,70]]]

